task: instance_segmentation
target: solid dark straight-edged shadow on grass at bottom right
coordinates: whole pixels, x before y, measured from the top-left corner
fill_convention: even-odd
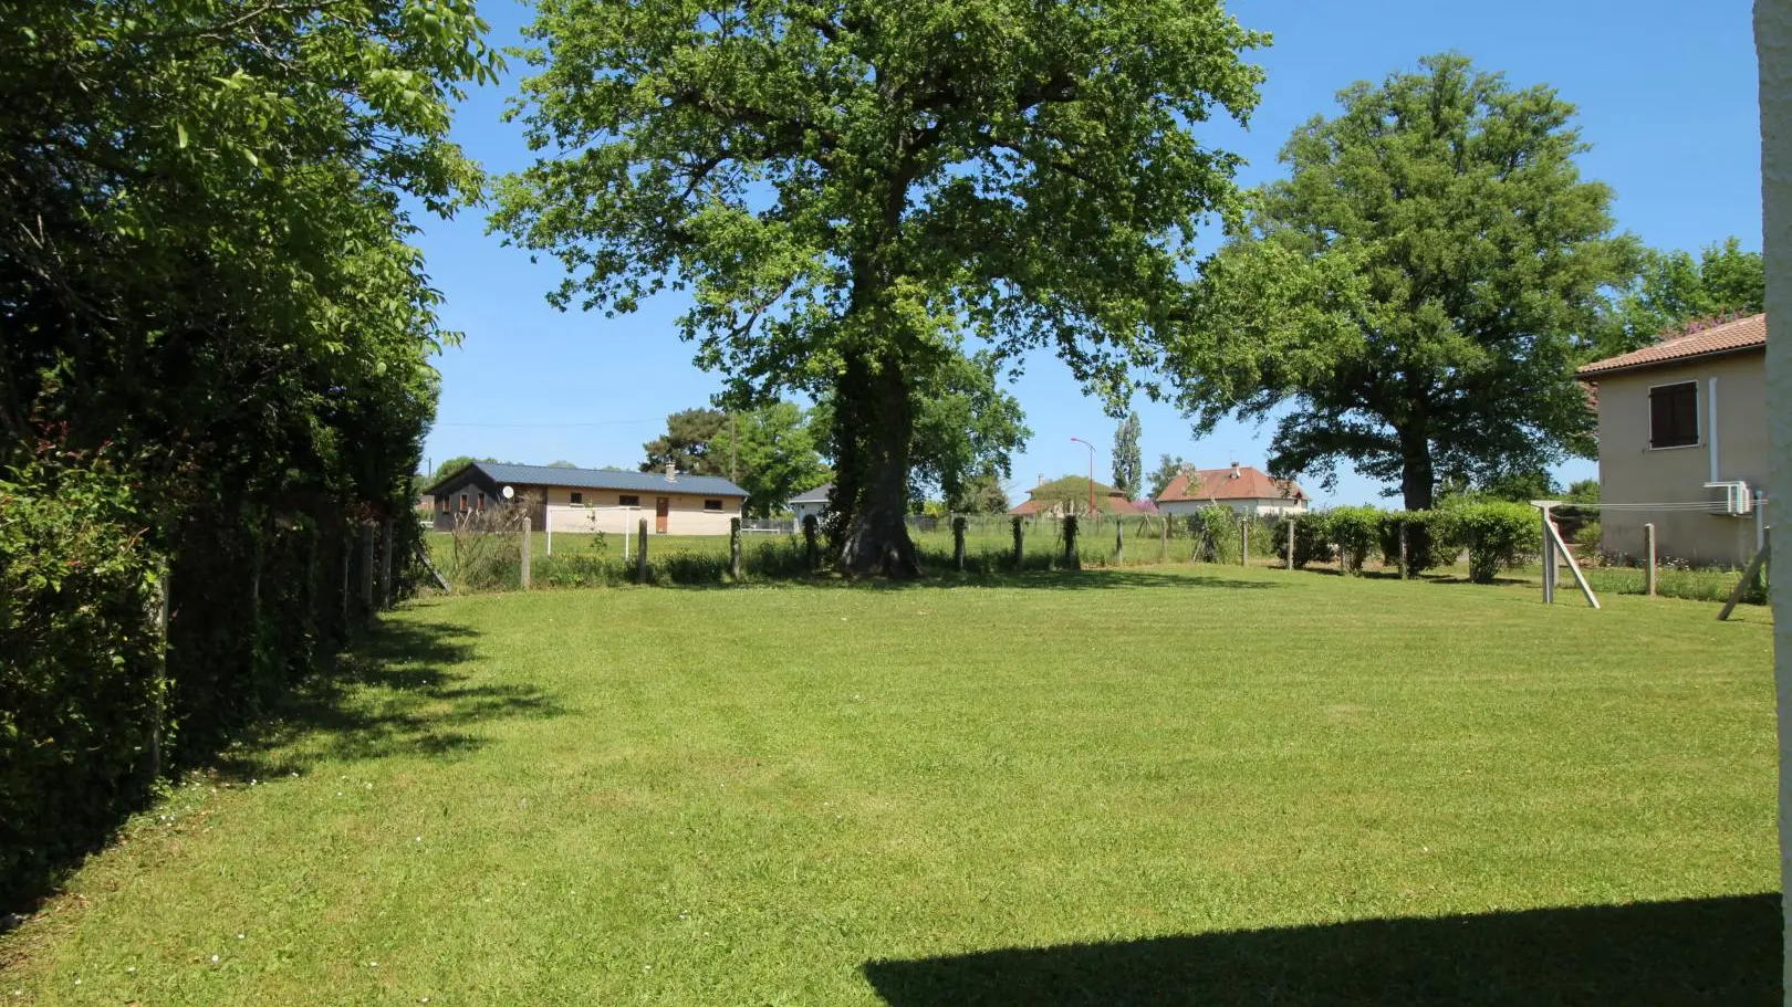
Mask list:
[[[1776,1007],[1779,896],[1016,948],[864,973],[892,1007]]]

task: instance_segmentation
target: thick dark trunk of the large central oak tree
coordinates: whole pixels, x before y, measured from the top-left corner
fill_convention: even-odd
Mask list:
[[[909,452],[914,405],[909,376],[894,353],[876,369],[853,358],[835,385],[835,460],[830,505],[846,505],[840,572],[849,577],[909,579],[921,563],[909,538]],[[842,493],[844,491],[844,493]]]

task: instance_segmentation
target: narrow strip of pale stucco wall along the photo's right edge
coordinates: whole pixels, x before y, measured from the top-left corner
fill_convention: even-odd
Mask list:
[[[1781,330],[1792,324],[1792,0],[1756,0],[1754,47],[1762,70],[1762,251],[1767,256],[1767,430],[1772,443],[1769,495],[1792,500],[1792,346]],[[1785,536],[1792,538],[1792,536]],[[1781,539],[1785,541],[1785,539]],[[1785,548],[1785,547],[1781,547]],[[1788,550],[1792,552],[1792,550]],[[1792,564],[1772,564],[1774,683],[1779,706],[1779,891],[1792,891],[1787,805],[1792,803]],[[1792,923],[1781,894],[1781,914]],[[1792,951],[1792,926],[1781,930]],[[1781,959],[1787,1003],[1792,969]]]

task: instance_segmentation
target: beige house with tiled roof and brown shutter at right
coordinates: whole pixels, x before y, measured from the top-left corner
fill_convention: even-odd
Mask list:
[[[1598,403],[1606,552],[1740,566],[1767,527],[1767,315],[1581,367]]]

